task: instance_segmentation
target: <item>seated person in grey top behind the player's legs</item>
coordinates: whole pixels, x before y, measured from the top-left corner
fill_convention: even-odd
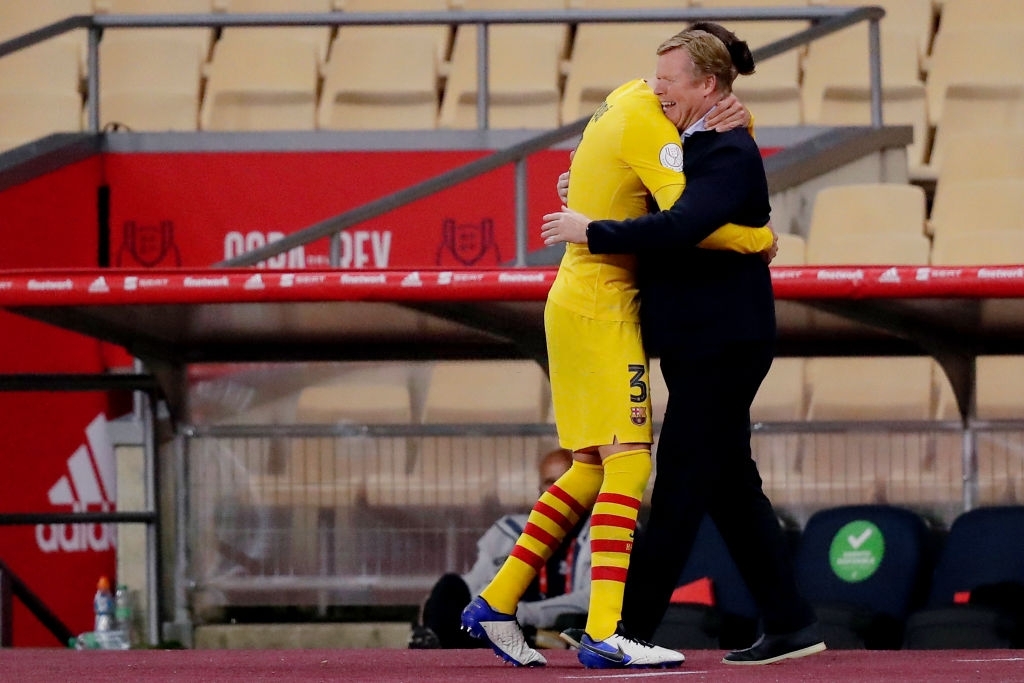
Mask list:
[[[557,449],[541,456],[538,468],[541,490],[547,490],[572,464],[572,454]],[[466,604],[494,579],[515,547],[526,525],[527,512],[505,515],[480,537],[477,556],[465,574],[442,575],[423,603],[409,646],[421,648],[487,647],[461,629],[460,615]],[[565,614],[586,617],[590,603],[590,516],[577,523],[566,542],[544,565],[526,591],[516,616],[527,636],[538,629],[563,628]],[[559,617],[562,616],[562,620]],[[558,626],[556,627],[556,621]]]

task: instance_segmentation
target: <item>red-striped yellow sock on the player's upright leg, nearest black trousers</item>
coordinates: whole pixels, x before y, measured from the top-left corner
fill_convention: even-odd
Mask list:
[[[624,451],[604,459],[604,483],[590,518],[591,587],[587,633],[604,640],[615,632],[623,614],[623,592],[633,551],[650,451]]]

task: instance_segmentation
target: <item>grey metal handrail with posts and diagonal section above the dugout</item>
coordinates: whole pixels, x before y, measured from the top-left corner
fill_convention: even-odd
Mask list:
[[[603,24],[603,23],[650,23],[700,20],[806,20],[811,26],[787,38],[783,38],[753,50],[755,60],[767,59],[786,50],[805,45],[817,38],[840,31],[860,22],[868,22],[869,74],[871,91],[871,126],[881,128],[882,120],[882,63],[879,22],[885,10],[879,6],[859,7],[722,7],[722,8],[665,8],[636,10],[522,10],[522,11],[433,11],[433,12],[326,12],[326,13],[203,13],[203,14],[94,14],[72,16],[37,29],[23,36],[0,43],[0,57],[15,50],[34,45],[54,36],[85,28],[89,32],[86,108],[88,129],[99,130],[99,41],[106,29],[128,28],[226,28],[226,27],[309,27],[309,26],[380,26],[380,25],[477,25],[478,52],[486,54],[486,29],[490,25],[506,24]],[[477,127],[485,128],[487,122],[487,60],[477,59]],[[328,218],[273,242],[272,244],[221,261],[215,266],[253,265],[267,258],[278,256],[289,249],[329,236],[337,236],[341,230],[358,222],[380,216],[388,211],[422,199],[432,193],[444,189],[465,180],[487,173],[508,163],[517,164],[516,193],[524,196],[525,173],[522,172],[525,158],[535,152],[547,148],[563,140],[579,135],[589,117],[563,125],[530,138],[524,142],[499,151],[488,158],[476,160],[462,167],[428,178],[416,185],[406,187],[378,200],[369,202],[342,214]],[[526,225],[523,215],[524,202],[516,203],[516,265],[525,265]],[[335,238],[337,239],[337,238]],[[337,249],[332,249],[332,261]],[[337,265],[332,262],[332,265]]]

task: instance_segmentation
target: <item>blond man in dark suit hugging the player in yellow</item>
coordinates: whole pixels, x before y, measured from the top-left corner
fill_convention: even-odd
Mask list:
[[[623,622],[640,638],[652,636],[708,513],[758,602],[765,632],[725,661],[768,664],[824,644],[751,457],[750,407],[774,355],[768,265],[759,254],[694,248],[726,223],[768,223],[764,163],[746,129],[703,130],[705,115],[698,110],[681,126],[687,186],[671,209],[586,228],[595,254],[638,256],[644,345],[660,357],[669,388],[651,512],[633,551]]]

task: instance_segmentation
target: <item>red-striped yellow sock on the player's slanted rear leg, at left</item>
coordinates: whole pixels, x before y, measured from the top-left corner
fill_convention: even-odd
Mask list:
[[[572,462],[568,471],[541,494],[512,554],[480,596],[494,609],[514,614],[519,598],[580,517],[594,505],[604,469]]]

